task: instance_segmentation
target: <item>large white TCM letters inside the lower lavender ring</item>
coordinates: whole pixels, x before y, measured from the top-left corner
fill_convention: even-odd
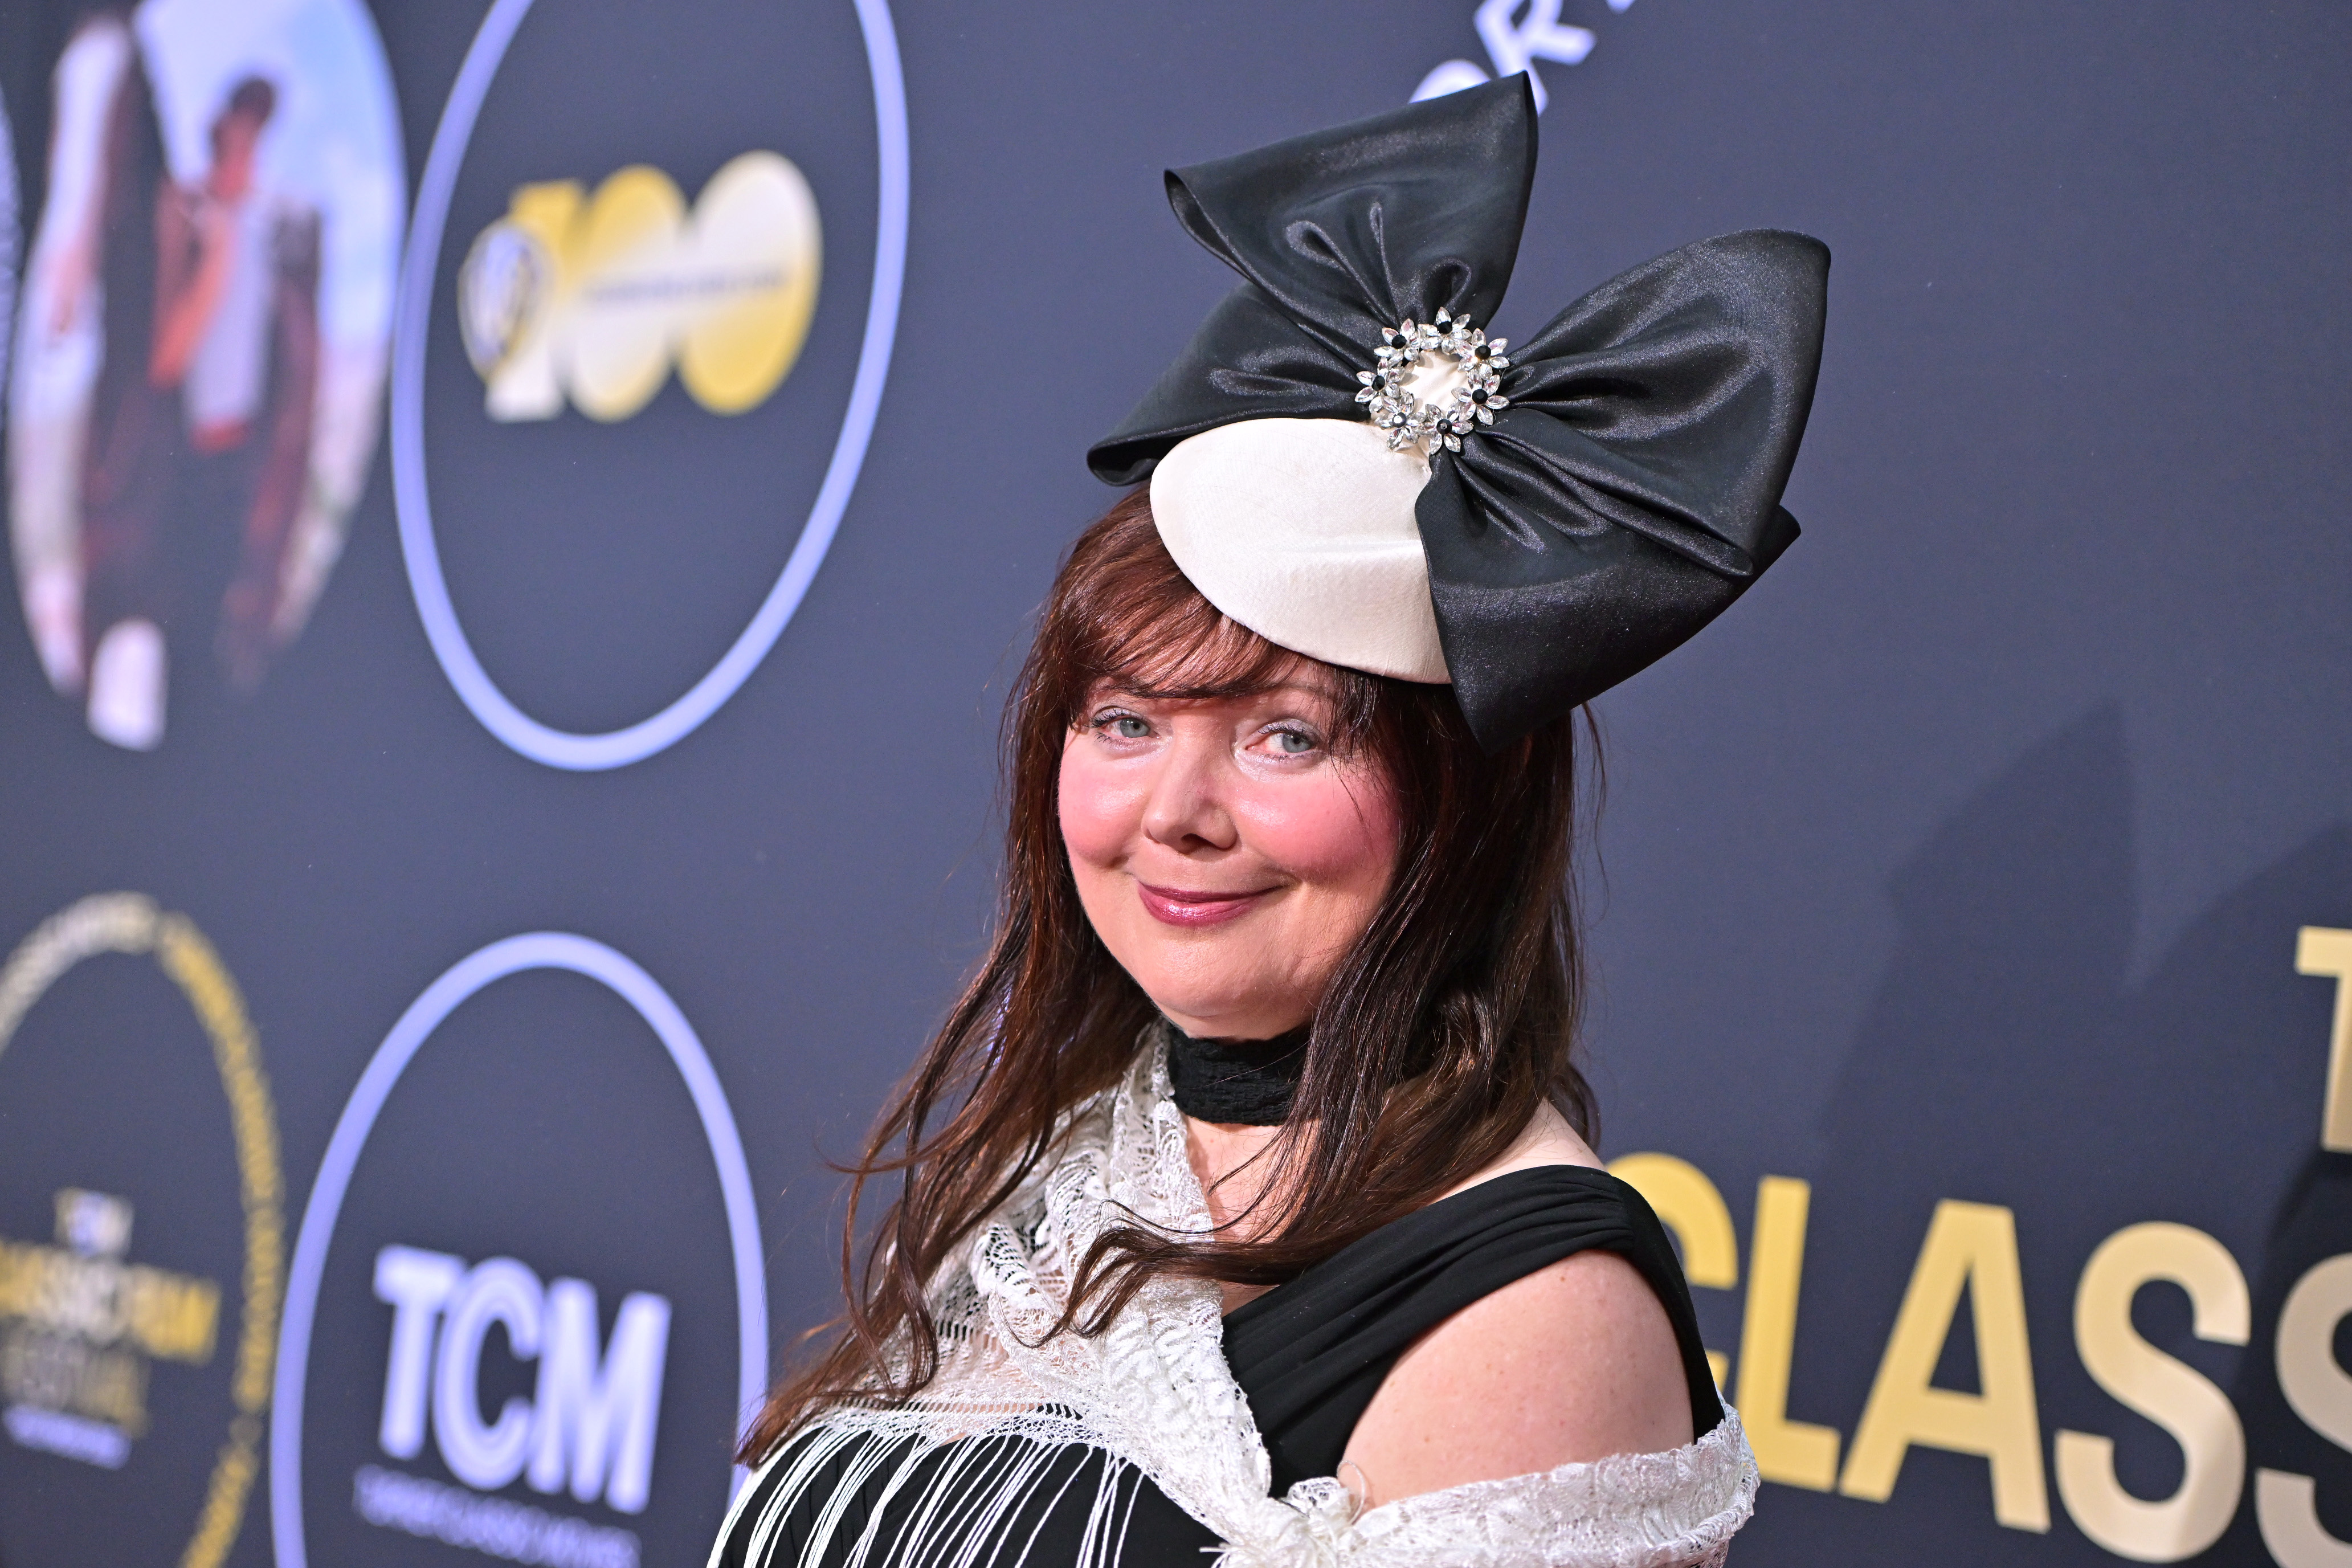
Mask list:
[[[541,1493],[572,1490],[642,1514],[654,1476],[661,1368],[670,1302],[644,1291],[621,1300],[612,1340],[597,1335],[595,1286],[539,1284],[527,1265],[414,1246],[376,1253],[376,1300],[393,1307],[390,1366],[376,1441],[395,1460],[423,1453],[430,1422],[442,1462],[466,1486],[494,1493],[527,1476]],[[517,1361],[539,1361],[534,1399],[513,1396],[482,1418],[482,1342],[506,1331]]]

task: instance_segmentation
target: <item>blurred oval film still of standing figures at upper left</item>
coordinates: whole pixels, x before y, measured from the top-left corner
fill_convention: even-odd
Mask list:
[[[49,684],[151,750],[174,693],[261,684],[341,550],[381,421],[400,125],[360,0],[96,5],[64,38],[9,543]]]

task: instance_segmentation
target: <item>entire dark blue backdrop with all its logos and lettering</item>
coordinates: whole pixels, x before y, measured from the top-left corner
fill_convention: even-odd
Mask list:
[[[1529,71],[1524,331],[1832,247],[1602,701],[1776,1563],[2352,1566],[2352,16],[0,2],[0,1563],[694,1563],[976,954],[1160,169]]]

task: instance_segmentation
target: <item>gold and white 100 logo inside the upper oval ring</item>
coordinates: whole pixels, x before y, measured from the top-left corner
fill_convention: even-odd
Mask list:
[[[743,153],[694,212],[633,165],[595,195],[522,186],[475,237],[456,320],[492,418],[555,418],[564,400],[628,418],[677,381],[713,414],[767,402],[809,336],[823,237],[816,195],[781,153]]]

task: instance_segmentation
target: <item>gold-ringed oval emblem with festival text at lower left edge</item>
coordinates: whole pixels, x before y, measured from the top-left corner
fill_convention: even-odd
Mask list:
[[[7,1448],[52,1467],[33,1497],[7,1509],[9,1526],[38,1528],[40,1502],[59,1514],[59,1540],[12,1537],[9,1561],[19,1552],[47,1556],[71,1542],[61,1556],[92,1549],[165,1556],[169,1549],[183,1568],[219,1568],[245,1526],[278,1349],[285,1284],[278,1110],[238,983],[186,914],[158,910],[143,893],[82,898],[9,954],[0,966],[0,1056],[35,1004],[101,954],[153,957],[212,1044],[209,1077],[226,1098],[235,1150],[238,1244],[214,1244],[209,1267],[188,1258],[207,1251],[186,1194],[193,1173],[186,1150],[160,1135],[188,1121],[186,1103],[174,1098],[186,1086],[169,1081],[176,1065],[120,1053],[108,1063],[103,1046],[75,1053],[94,1081],[75,1084],[73,1098],[96,1091],[103,1105],[113,1091],[111,1138],[92,1140],[111,1147],[78,1143],[66,1154],[42,1147],[52,1128],[26,1128],[9,1138],[0,1161],[0,1175],[14,1175],[19,1159],[47,1154],[42,1192],[24,1194],[0,1182],[0,1194],[9,1208],[33,1197],[54,1213],[54,1241],[0,1237],[0,1425]],[[122,990],[111,987],[106,999],[80,994],[82,1027],[101,1041],[151,1044],[162,1020]],[[132,1072],[172,1103],[165,1128],[125,1124],[141,1114],[122,1103]],[[127,1180],[158,1157],[174,1168],[136,1171],[151,1180]],[[92,1180],[92,1171],[103,1173],[99,1180],[111,1190],[49,1190],[52,1182]],[[226,1371],[226,1387],[193,1403],[219,1399],[228,1408],[226,1429],[179,1420],[191,1403],[188,1380],[212,1378],[205,1368]],[[158,1446],[174,1474],[158,1476],[141,1465]],[[176,1474],[205,1481],[191,1486],[193,1516],[162,1519],[158,1502]],[[162,1530],[169,1540],[96,1544],[96,1528]]]

